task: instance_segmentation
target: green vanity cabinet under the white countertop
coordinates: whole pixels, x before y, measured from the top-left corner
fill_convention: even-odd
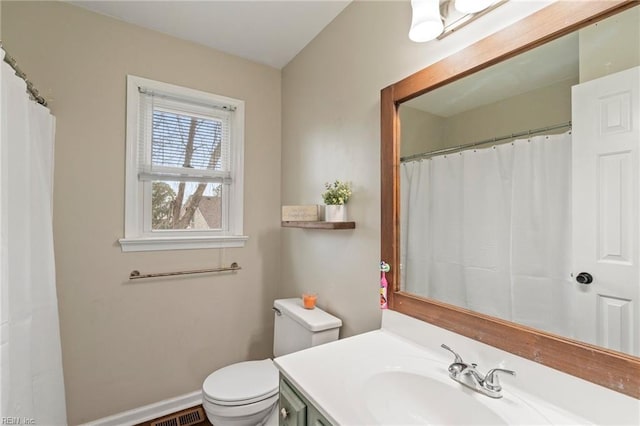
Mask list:
[[[279,426],[331,426],[331,423],[284,377],[280,377]]]

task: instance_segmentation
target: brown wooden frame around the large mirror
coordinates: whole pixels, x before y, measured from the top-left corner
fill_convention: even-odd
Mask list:
[[[552,3],[381,92],[382,259],[390,309],[640,399],[640,358],[400,291],[402,102],[638,6],[638,0]]]

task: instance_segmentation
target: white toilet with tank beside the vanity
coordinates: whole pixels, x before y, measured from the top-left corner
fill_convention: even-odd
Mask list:
[[[302,299],[273,302],[273,355],[278,357],[338,340],[339,318],[305,309]],[[214,426],[277,424],[278,369],[271,359],[245,361],[211,373],[202,385],[202,405]]]

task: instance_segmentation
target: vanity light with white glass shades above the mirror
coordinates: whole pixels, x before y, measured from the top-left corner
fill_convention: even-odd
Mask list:
[[[411,0],[409,38],[415,42],[441,39],[507,0]]]

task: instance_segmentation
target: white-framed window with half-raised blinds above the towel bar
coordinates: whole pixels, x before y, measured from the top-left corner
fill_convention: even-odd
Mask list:
[[[242,247],[244,102],[127,78],[123,251]]]

